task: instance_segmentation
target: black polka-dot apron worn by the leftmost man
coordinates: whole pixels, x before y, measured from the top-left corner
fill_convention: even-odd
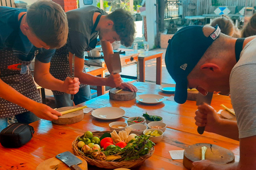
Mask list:
[[[19,20],[19,27],[22,18],[23,15]],[[0,50],[0,78],[6,84],[20,92],[20,94],[38,103],[42,103],[42,98],[39,95],[28,68],[30,63],[31,61],[21,61],[13,55],[12,49],[2,49]],[[24,112],[28,112],[28,110],[0,97],[0,118],[18,115]]]

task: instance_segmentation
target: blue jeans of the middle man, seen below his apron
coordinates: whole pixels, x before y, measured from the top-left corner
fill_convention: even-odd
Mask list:
[[[53,95],[53,96],[54,96],[55,104],[57,108],[74,106],[74,103],[75,105],[78,105],[92,98],[91,89],[89,85],[79,88],[79,91],[77,92],[77,94],[74,95],[74,100],[71,100],[70,94],[66,94],[66,93],[63,95]]]

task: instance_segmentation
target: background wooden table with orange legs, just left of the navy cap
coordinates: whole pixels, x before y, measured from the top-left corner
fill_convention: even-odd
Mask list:
[[[146,61],[156,58],[156,84],[162,84],[162,55],[163,52],[142,52],[139,54],[139,81],[145,82]]]

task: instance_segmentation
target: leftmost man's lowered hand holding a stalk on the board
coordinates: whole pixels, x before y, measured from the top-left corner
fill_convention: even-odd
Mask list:
[[[45,120],[57,120],[58,116],[62,116],[62,114],[51,107],[44,105],[42,103],[36,103],[36,106],[31,110],[37,117],[43,118]]]

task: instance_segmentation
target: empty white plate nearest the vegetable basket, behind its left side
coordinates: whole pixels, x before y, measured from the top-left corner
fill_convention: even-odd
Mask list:
[[[92,111],[92,116],[101,120],[115,120],[124,114],[125,111],[118,107],[102,107]]]

